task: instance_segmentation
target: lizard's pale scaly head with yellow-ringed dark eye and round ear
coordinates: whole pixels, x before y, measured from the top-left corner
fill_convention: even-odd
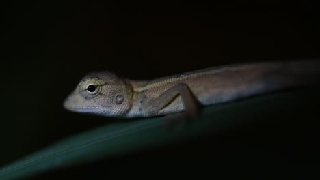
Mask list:
[[[88,74],[64,101],[73,112],[120,117],[131,108],[132,87],[110,72]]]

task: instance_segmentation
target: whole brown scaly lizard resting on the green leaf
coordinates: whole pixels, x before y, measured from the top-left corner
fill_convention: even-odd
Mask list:
[[[64,100],[64,108],[105,117],[154,117],[178,112],[192,117],[202,106],[310,85],[319,75],[320,61],[217,65],[153,80],[92,72]]]

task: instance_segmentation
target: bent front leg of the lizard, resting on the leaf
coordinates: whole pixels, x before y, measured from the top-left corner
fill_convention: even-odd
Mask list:
[[[196,116],[196,114],[198,114],[198,102],[189,87],[183,83],[171,87],[158,97],[146,102],[143,106],[144,110],[146,110],[148,115],[158,115],[158,112],[166,106],[169,106],[178,95],[181,96],[183,102],[181,105],[185,106],[184,114],[187,115],[187,117]]]

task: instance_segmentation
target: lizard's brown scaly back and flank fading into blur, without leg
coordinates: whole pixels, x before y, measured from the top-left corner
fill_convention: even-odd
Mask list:
[[[202,106],[228,102],[269,91],[308,85],[320,75],[319,61],[248,63],[224,65],[157,78],[136,87],[146,99],[156,98],[171,87],[185,83]],[[159,115],[183,111],[181,97],[159,111]]]

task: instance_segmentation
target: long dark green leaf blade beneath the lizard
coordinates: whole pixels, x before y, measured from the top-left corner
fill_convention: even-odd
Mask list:
[[[315,95],[319,98],[318,92],[319,87],[282,91],[218,104],[202,108],[200,117],[191,122],[185,119],[174,119],[176,122],[172,128],[168,128],[168,123],[165,123],[168,121],[165,121],[164,117],[135,119],[105,125],[56,142],[4,166],[0,169],[0,179],[28,177],[57,167],[87,163],[101,157],[120,156],[170,142],[206,136],[212,132],[246,123],[249,117],[269,113],[273,108],[289,106],[293,99],[295,103],[299,103],[311,100]]]

